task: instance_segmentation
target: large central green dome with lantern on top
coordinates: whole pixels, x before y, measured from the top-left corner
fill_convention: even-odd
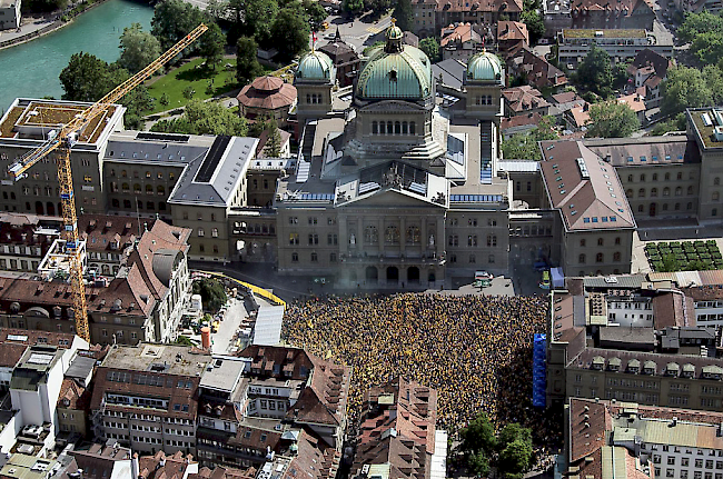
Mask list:
[[[402,30],[392,24],[384,47],[372,50],[359,73],[356,97],[360,100],[423,100],[432,96],[432,64],[418,48],[402,43]]]

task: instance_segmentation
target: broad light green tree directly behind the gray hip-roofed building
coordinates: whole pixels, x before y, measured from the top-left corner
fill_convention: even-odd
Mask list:
[[[245,137],[248,124],[245,118],[235,114],[220,103],[190,100],[184,116],[174,120],[161,120],[151,131],[185,134],[230,134]]]

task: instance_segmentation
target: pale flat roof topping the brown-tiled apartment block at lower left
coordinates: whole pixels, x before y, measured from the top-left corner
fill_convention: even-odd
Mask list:
[[[208,352],[187,346],[151,345],[116,346],[110,349],[102,366],[128,371],[149,371],[177,376],[197,376],[211,360]]]

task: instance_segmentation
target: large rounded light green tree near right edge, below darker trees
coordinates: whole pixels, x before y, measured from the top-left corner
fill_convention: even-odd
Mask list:
[[[682,66],[667,70],[667,77],[661,86],[661,97],[663,114],[675,114],[686,108],[702,108],[713,103],[713,92],[701,71]]]

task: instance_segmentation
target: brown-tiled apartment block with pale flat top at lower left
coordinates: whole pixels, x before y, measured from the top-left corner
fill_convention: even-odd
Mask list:
[[[211,360],[181,346],[116,346],[96,373],[93,433],[146,453],[196,453],[198,386]]]

